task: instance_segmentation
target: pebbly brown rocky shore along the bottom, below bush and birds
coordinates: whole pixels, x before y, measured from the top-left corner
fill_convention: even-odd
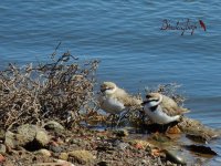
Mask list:
[[[192,126],[192,127],[191,127]],[[200,132],[191,133],[191,128]],[[188,129],[187,129],[188,128]],[[207,129],[206,129],[207,128]],[[188,131],[188,132],[187,132]],[[94,131],[77,126],[65,129],[50,121],[42,126],[21,125],[1,129],[0,164],[3,166],[177,166],[203,165],[203,157],[190,157],[186,151],[215,156],[206,143],[219,136],[214,129],[185,118],[166,134],[131,134],[130,129]],[[201,141],[187,144],[181,137]],[[193,146],[194,145],[194,146]],[[188,148],[189,147],[189,148]],[[190,148],[191,147],[191,148]]]

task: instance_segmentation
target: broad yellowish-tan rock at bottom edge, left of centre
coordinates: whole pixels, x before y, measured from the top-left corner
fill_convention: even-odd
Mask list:
[[[73,151],[69,153],[69,156],[73,157],[78,164],[91,164],[94,160],[94,156],[88,151]]]

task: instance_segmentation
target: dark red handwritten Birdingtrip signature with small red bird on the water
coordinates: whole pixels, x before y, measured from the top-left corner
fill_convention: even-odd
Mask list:
[[[199,25],[203,29],[203,31],[207,30],[206,24],[202,20],[198,20],[197,22],[193,22],[190,19],[187,19],[183,21],[172,22],[170,20],[165,19],[162,20],[162,25],[160,30],[181,31],[181,35],[183,35],[186,31],[189,31],[192,35]]]

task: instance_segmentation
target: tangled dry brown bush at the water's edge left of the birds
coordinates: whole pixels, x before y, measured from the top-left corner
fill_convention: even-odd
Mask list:
[[[70,124],[93,102],[94,73],[98,62],[80,62],[70,52],[52,62],[32,66],[9,64],[0,71],[0,126],[55,120]]]

